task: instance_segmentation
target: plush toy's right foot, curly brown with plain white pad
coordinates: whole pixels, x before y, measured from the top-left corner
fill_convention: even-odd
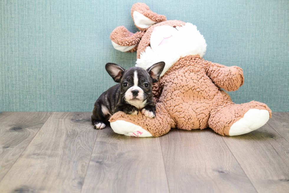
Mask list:
[[[265,125],[272,112],[266,104],[257,101],[224,105],[222,100],[216,100],[216,104],[208,124],[220,135],[234,136],[254,131]]]

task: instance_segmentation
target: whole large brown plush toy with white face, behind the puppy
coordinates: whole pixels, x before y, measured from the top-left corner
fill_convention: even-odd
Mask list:
[[[191,23],[167,21],[146,4],[131,9],[140,32],[117,27],[110,36],[115,49],[137,51],[136,66],[147,69],[164,61],[160,80],[153,85],[156,117],[141,112],[117,112],[110,118],[114,132],[136,137],[157,137],[171,128],[192,130],[212,128],[220,135],[242,135],[262,127],[271,117],[266,104],[251,101],[234,104],[224,91],[236,91],[244,83],[237,66],[205,61],[206,41]],[[224,90],[222,90],[224,89]]]

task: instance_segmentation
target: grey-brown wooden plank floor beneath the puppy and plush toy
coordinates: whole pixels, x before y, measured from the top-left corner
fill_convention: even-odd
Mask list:
[[[2,112],[0,192],[289,192],[289,112],[236,137],[127,137],[90,116]]]

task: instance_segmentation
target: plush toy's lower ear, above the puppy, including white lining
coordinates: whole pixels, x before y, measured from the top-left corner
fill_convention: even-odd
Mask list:
[[[111,43],[116,50],[121,52],[134,52],[144,35],[144,32],[132,33],[124,26],[116,27],[110,34]]]

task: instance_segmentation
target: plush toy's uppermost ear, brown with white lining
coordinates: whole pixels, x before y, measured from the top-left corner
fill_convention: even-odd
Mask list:
[[[131,12],[132,19],[134,20],[135,26],[139,30],[145,31],[151,25],[157,22],[166,21],[167,18],[164,15],[158,15],[152,12],[144,3],[135,3],[132,6]]]

